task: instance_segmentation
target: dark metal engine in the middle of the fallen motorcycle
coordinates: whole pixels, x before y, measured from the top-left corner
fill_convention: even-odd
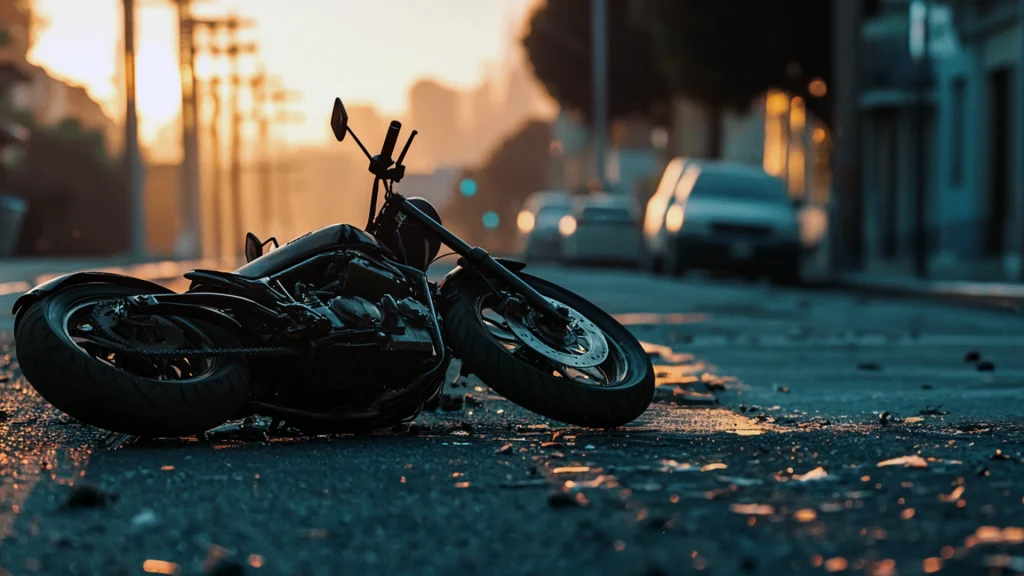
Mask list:
[[[304,380],[317,403],[365,408],[435,360],[430,311],[404,276],[361,253],[346,254],[332,274],[331,291],[338,295],[323,299],[318,312],[336,329],[314,344]],[[353,340],[346,336],[352,330],[370,335]]]

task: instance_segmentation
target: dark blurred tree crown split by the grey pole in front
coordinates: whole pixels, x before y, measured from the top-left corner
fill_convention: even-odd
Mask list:
[[[608,0],[608,113],[647,114],[668,96],[647,33],[630,23],[630,2]],[[594,101],[591,0],[549,0],[522,39],[534,74],[563,108],[590,119]]]

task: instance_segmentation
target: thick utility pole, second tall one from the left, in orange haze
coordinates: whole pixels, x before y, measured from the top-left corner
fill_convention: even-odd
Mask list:
[[[203,225],[199,177],[199,110],[196,98],[196,38],[191,0],[176,0],[178,6],[178,59],[181,75],[181,231],[179,256],[202,252]]]

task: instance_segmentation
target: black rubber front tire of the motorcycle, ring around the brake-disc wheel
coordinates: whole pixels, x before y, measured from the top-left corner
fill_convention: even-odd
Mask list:
[[[444,310],[445,340],[465,368],[509,401],[547,418],[568,424],[613,428],[637,419],[654,397],[654,368],[643,346],[622,324],[597,305],[535,276],[518,276],[541,294],[577,311],[603,333],[626,361],[623,378],[613,385],[578,383],[544,370],[513,354],[493,337],[480,315],[490,288],[471,273],[460,279],[458,298]]]

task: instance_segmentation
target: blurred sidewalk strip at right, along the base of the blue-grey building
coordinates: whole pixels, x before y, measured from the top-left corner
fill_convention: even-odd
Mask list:
[[[924,296],[996,307],[1024,310],[1024,283],[919,280],[872,274],[843,274],[838,288],[865,290],[894,296]]]

